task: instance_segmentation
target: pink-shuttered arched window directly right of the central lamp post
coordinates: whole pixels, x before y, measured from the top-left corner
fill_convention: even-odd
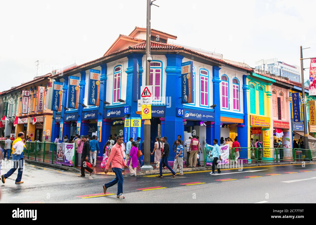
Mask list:
[[[162,80],[162,63],[152,61],[150,63],[149,85],[153,85],[153,96],[155,100],[161,100],[161,80]]]

